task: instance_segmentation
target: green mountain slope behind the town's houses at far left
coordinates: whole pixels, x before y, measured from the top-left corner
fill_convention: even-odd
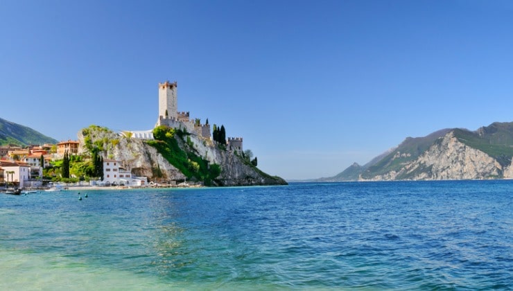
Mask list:
[[[0,118],[0,145],[38,145],[44,143],[58,143],[55,139],[37,132],[30,127],[12,123]]]

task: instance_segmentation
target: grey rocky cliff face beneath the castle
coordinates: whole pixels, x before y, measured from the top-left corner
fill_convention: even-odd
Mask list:
[[[177,134],[173,136],[173,139],[178,146],[176,150],[185,152],[191,165],[198,166],[198,164],[202,164],[202,161],[205,161],[207,167],[213,165],[220,167],[219,175],[211,179],[213,186],[286,184],[284,179],[261,172],[257,167],[246,163],[235,152],[224,150],[214,145],[212,141],[202,139],[200,136],[194,134],[180,136]],[[192,167],[191,170],[184,168],[180,170],[180,164],[171,164],[159,152],[159,147],[152,145],[161,143],[159,141],[143,141],[131,138],[130,135],[121,136],[105,127],[94,125],[78,132],[78,140],[80,142],[79,154],[89,155],[91,149],[96,147],[101,150],[104,159],[123,161],[124,166],[130,168],[134,175],[146,176],[155,182],[171,180],[202,182],[198,181],[198,179],[201,179],[199,175],[193,175],[195,174],[193,172],[200,171],[200,166],[198,168]],[[164,145],[164,150],[169,149],[169,145]],[[193,163],[191,159],[195,159],[198,163]]]

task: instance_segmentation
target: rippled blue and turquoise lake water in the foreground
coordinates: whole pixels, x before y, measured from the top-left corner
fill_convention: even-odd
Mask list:
[[[0,290],[513,289],[513,181],[0,195]]]

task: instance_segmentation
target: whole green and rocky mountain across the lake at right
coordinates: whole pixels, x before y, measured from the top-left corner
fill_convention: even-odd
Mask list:
[[[401,144],[365,166],[349,166],[324,181],[491,179],[513,177],[513,122],[476,131],[444,129]]]

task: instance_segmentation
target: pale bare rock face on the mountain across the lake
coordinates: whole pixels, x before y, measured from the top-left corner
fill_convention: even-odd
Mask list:
[[[502,175],[503,167],[496,159],[462,143],[449,132],[400,170],[390,170],[372,180],[489,179]]]

